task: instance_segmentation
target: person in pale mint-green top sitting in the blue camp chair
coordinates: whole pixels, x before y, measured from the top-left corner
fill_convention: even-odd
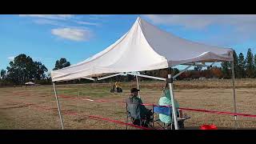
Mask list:
[[[164,89],[162,91],[162,96],[159,99],[158,104],[159,104],[159,106],[171,106],[172,105],[171,98],[170,98],[170,89],[169,89],[168,83],[166,83],[166,86],[164,87]],[[176,99],[174,99],[174,106],[177,111],[177,117],[182,117],[182,112],[181,111],[178,112],[179,105],[178,105],[178,102],[176,101]],[[167,126],[169,126],[170,124],[173,123],[173,118],[171,117],[171,115],[159,114],[159,119],[161,122],[164,122]]]

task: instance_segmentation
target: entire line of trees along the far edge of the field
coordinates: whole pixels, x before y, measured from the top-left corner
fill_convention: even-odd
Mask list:
[[[234,76],[235,78],[256,78],[256,54],[253,54],[251,49],[247,50],[246,58],[242,53],[237,54],[234,50]],[[55,62],[53,70],[62,69],[70,66],[70,62],[66,58],[60,58]],[[10,66],[6,70],[1,70],[0,86],[24,85],[25,82],[35,82],[39,84],[50,84],[50,74],[46,74],[48,69],[42,62],[36,62],[26,54],[19,54],[10,62]],[[180,71],[177,68],[161,69],[161,70],[147,70],[140,72],[141,74],[166,78],[170,73],[174,76]],[[191,78],[231,78],[232,70],[230,62],[222,62],[221,66],[207,67],[202,69],[202,66],[194,66],[194,70],[187,70],[178,76],[178,80]],[[101,82],[130,82],[134,81],[135,77],[118,76],[115,78],[107,78]],[[149,78],[139,78],[140,81],[152,81]],[[74,80],[72,83],[89,82],[88,80]],[[67,82],[67,83],[70,83]]]

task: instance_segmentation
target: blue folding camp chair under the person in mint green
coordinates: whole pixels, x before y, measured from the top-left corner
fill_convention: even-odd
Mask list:
[[[153,114],[165,114],[165,115],[170,115],[171,118],[173,118],[172,116],[172,110],[171,107],[166,107],[166,106],[153,106]],[[177,111],[177,119],[178,119],[178,127],[179,129],[184,129],[184,121],[186,119],[189,119],[189,116],[185,116],[182,117],[182,115],[180,114],[179,110]],[[154,122],[158,122],[161,121],[160,119],[154,120]],[[164,126],[162,126],[163,129],[168,129],[170,126],[170,129],[172,130],[174,127],[174,119],[170,124],[166,124],[164,122],[162,122]]]

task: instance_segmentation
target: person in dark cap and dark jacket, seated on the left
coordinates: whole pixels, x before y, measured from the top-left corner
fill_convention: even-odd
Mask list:
[[[138,98],[138,89],[132,88],[130,90],[130,98],[127,99],[127,104],[137,104],[138,105],[138,110],[139,110],[139,118],[135,118],[133,124],[134,125],[142,125],[147,127],[147,123],[150,121],[150,116],[153,115],[151,110],[147,109],[146,106],[142,105],[142,99]],[[142,123],[142,119],[145,121]]]

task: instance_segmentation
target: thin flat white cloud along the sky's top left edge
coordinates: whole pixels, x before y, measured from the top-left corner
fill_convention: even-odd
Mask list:
[[[34,18],[48,18],[65,20],[66,18],[73,17],[72,14],[19,14],[20,17],[34,17]]]

